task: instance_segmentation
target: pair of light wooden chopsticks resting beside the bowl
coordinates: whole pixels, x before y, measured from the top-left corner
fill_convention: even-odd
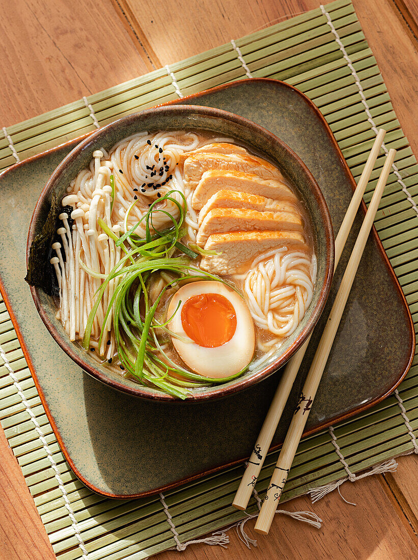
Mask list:
[[[370,179],[371,171],[373,170],[375,161],[379,155],[380,147],[382,147],[385,133],[385,130],[380,129],[377,134],[359,183],[357,184],[354,195],[342,221],[340,230],[338,231],[338,235],[335,240],[334,270],[337,268],[338,261],[340,260],[347,237],[354,222],[357,209],[363,199],[366,186]],[[302,436],[306,420],[308,419],[310,408],[312,407],[313,399],[317,393],[319,382],[321,381],[329,352],[331,351],[338,325],[340,324],[341,316],[345,308],[347,298],[349,297],[357,268],[359,267],[361,255],[363,255],[366,241],[371,227],[373,226],[374,217],[379,206],[380,198],[382,198],[389,172],[391,171],[395,153],[396,150],[389,150],[387,154],[386,161],[382,172],[380,173],[368,211],[366,212],[363,225],[361,226],[359,235],[357,236],[349,263],[347,264],[347,268],[342,278],[340,288],[338,288],[331,313],[329,314],[327,324],[324,328],[321,340],[319,341],[308,376],[306,377],[298,407],[296,407],[294,416],[292,417],[289,431],[287,432],[275,470],[273,471],[270,486],[267,489],[261,511],[258,515],[256,526],[254,528],[258,533],[267,535],[268,530],[270,529],[271,522],[275,515],[276,506],[278,501],[280,501],[281,493],[287,480],[287,475],[289,474],[296,450],[298,449],[300,438]],[[277,424],[285,408],[285,404],[287,398],[289,397],[292,385],[296,379],[296,375],[298,374],[299,367],[309,344],[309,340],[310,337],[305,341],[299,351],[296,352],[296,354],[289,360],[285,367],[275,396],[273,397],[270,405],[270,409],[268,410],[266,419],[264,420],[261,428],[261,432],[259,433],[258,440],[254,446],[254,451],[248,461],[247,469],[245,470],[238,491],[235,494],[233,506],[239,510],[245,510],[248,505],[249,498],[263,466],[273,435],[276,432]]]

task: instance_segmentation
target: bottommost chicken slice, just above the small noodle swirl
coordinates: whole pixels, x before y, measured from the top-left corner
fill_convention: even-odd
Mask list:
[[[213,234],[205,250],[219,255],[204,256],[200,267],[215,274],[241,274],[253,260],[271,249],[288,247],[306,250],[303,235],[296,231],[234,231]]]

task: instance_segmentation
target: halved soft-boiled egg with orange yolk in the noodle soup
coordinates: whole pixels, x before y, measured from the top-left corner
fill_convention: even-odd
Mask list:
[[[169,329],[180,337],[171,337],[174,348],[196,373],[229,377],[251,361],[254,323],[243,298],[226,284],[185,284],[171,299],[167,316]]]

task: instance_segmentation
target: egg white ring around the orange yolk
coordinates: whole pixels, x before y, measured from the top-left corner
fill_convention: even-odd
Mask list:
[[[202,293],[220,294],[226,297],[234,307],[236,315],[235,333],[222,346],[215,348],[199,346],[199,344],[196,344],[194,340],[188,337],[183,329],[181,318],[183,305],[189,298],[201,295]],[[229,377],[230,375],[237,374],[249,364],[255,347],[254,323],[243,298],[235,290],[222,282],[190,282],[182,286],[171,299],[167,310],[168,318],[173,315],[178,305],[179,308],[168,327],[173,333],[182,337],[183,340],[176,337],[171,337],[171,340],[184,363],[194,372],[206,377],[219,379],[220,377]]]

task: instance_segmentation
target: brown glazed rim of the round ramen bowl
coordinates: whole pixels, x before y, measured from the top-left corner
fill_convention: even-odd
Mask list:
[[[191,96],[193,99],[193,96]],[[131,124],[134,123],[140,118],[147,118],[148,115],[155,115],[155,114],[173,114],[176,115],[178,113],[185,113],[186,111],[193,111],[194,113],[201,114],[203,116],[211,116],[214,118],[221,118],[224,120],[228,120],[236,125],[240,125],[244,128],[256,129],[259,133],[264,134],[266,137],[270,138],[276,144],[280,144],[280,146],[293,158],[296,165],[303,170],[306,178],[308,179],[311,191],[314,194],[317,206],[320,211],[320,220],[322,221],[325,237],[326,237],[326,268],[325,268],[325,276],[324,281],[321,286],[321,292],[318,296],[317,304],[314,306],[312,311],[310,311],[309,319],[306,322],[303,330],[301,330],[299,336],[294,340],[287,350],[282,353],[280,356],[276,358],[273,362],[271,362],[268,366],[261,368],[260,371],[256,372],[253,375],[248,375],[246,377],[238,377],[234,382],[230,382],[228,386],[223,384],[213,385],[212,387],[205,390],[205,393],[192,393],[187,395],[185,399],[175,398],[169,394],[162,393],[162,391],[154,390],[154,388],[147,388],[147,391],[143,390],[142,385],[137,387],[132,387],[124,384],[123,378],[121,377],[120,381],[116,381],[108,377],[104,371],[100,370],[100,366],[92,367],[90,364],[83,361],[80,356],[75,352],[75,344],[71,342],[69,339],[64,339],[61,334],[59,334],[58,330],[55,328],[52,321],[50,321],[47,313],[44,310],[43,305],[40,301],[40,290],[41,288],[38,286],[30,286],[30,291],[32,294],[32,298],[35,302],[36,309],[40,315],[40,318],[43,320],[43,323],[47,327],[49,333],[54,338],[55,342],[63,349],[64,352],[75,362],[79,367],[82,368],[87,374],[91,375],[95,379],[103,382],[105,385],[111,386],[113,389],[117,389],[122,391],[123,393],[127,393],[129,395],[137,396],[139,398],[148,399],[148,400],[155,400],[158,402],[173,402],[173,403],[187,403],[187,402],[198,402],[201,400],[211,400],[220,398],[223,396],[231,395],[238,391],[241,391],[245,388],[248,388],[251,385],[258,383],[259,381],[266,379],[266,377],[272,375],[275,371],[278,370],[287,360],[303,345],[305,340],[309,337],[312,333],[312,330],[319,320],[323,308],[326,304],[329,291],[331,290],[331,283],[332,283],[332,276],[333,276],[333,267],[334,267],[334,256],[335,256],[335,248],[334,248],[334,235],[333,235],[333,227],[331,222],[331,216],[328,211],[326,200],[322,194],[321,189],[317,181],[315,180],[312,173],[309,171],[308,167],[304,164],[301,158],[293,151],[287,144],[278,138],[275,134],[270,132],[269,130],[261,127],[257,123],[240,116],[234,113],[230,113],[229,111],[224,111],[222,109],[216,109],[212,107],[206,107],[202,105],[175,105],[171,102],[169,105],[160,105],[155,106],[150,109],[145,109],[138,113],[132,113],[130,115],[124,116],[118,120],[115,120],[108,125],[101,127],[100,129],[95,130],[94,132],[90,133],[87,137],[82,139],[80,143],[78,143],[71,152],[68,153],[66,157],[59,163],[59,165],[55,168],[52,175],[48,179],[47,183],[45,184],[44,188],[42,189],[38,201],[36,202],[36,206],[34,208],[34,212],[32,213],[30,225],[29,225],[29,232],[27,235],[27,245],[26,245],[26,264],[29,259],[29,249],[31,242],[35,235],[35,225],[36,225],[36,217],[40,211],[40,208],[46,202],[46,199],[54,188],[55,183],[59,180],[62,172],[66,169],[66,166],[69,162],[75,160],[80,153],[87,149],[90,144],[96,143],[97,138],[106,137],[109,130],[113,128],[120,127],[120,124]]]

